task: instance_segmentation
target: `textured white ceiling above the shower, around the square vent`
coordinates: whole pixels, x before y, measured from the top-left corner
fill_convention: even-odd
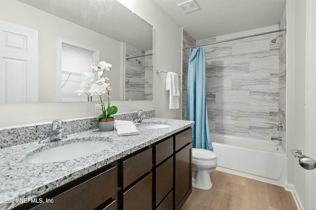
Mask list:
[[[188,0],[154,0],[194,39],[200,40],[278,24],[286,0],[195,0],[200,7],[184,13]]]

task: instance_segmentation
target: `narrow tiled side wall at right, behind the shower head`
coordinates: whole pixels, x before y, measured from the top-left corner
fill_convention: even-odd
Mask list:
[[[279,29],[286,29],[286,4],[281,16]],[[286,31],[280,32],[279,37],[279,100],[278,100],[278,117],[279,122],[283,122],[283,131],[278,131],[278,136],[282,137],[282,148],[286,151]]]

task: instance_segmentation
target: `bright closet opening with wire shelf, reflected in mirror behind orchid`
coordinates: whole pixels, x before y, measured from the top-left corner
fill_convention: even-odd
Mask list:
[[[80,47],[62,43],[62,102],[87,102],[87,95],[78,96],[76,90],[80,89],[81,74],[91,71],[94,63],[94,52]]]

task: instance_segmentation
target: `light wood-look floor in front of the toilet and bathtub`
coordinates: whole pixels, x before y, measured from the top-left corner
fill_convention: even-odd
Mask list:
[[[193,191],[181,210],[297,210],[284,187],[214,171],[212,188]]]

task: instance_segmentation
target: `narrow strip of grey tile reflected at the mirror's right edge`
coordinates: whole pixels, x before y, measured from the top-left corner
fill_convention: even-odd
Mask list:
[[[145,51],[145,101],[153,100],[153,50]]]

